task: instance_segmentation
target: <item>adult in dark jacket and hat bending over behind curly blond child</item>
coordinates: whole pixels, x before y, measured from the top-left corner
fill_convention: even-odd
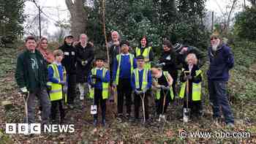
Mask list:
[[[181,45],[181,44],[176,44],[176,52],[178,53],[177,55],[177,61],[178,69],[181,69],[182,67],[186,67],[187,61],[185,59],[187,58],[187,55],[189,53],[195,53],[195,56],[197,56],[198,59],[198,66],[203,67],[203,64],[206,62],[206,54],[200,51],[198,48],[195,48],[190,45]],[[181,64],[181,65],[180,65]]]

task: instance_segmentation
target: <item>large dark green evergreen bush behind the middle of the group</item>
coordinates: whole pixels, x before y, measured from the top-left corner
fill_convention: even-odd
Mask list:
[[[106,1],[106,31],[116,30],[122,39],[128,39],[133,47],[143,35],[148,37],[154,48],[159,48],[162,39],[171,42],[186,42],[197,48],[206,48],[208,31],[202,23],[205,0],[138,0]],[[102,1],[94,1],[86,24],[87,34],[95,44],[104,44],[102,36]],[[95,23],[99,23],[96,25]]]

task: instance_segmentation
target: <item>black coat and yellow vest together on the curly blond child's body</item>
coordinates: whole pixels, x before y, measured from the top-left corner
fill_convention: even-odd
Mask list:
[[[185,69],[182,69],[181,72],[181,91],[179,96],[184,98],[187,94],[187,81],[184,80],[184,75],[189,75],[188,66]],[[202,81],[202,71],[199,69],[197,65],[194,65],[190,75],[192,76],[192,80],[189,80],[189,100],[198,101],[201,100],[201,81]]]

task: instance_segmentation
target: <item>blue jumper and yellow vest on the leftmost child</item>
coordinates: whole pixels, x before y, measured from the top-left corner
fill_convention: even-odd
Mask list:
[[[48,65],[49,72],[49,81],[47,86],[50,87],[50,101],[55,101],[62,99],[63,91],[62,85],[59,84],[61,80],[64,80],[66,77],[66,70],[61,65],[57,64],[49,64]]]

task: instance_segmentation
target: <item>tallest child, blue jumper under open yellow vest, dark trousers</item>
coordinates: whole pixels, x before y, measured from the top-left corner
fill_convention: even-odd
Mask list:
[[[118,54],[113,61],[113,88],[117,86],[118,117],[123,115],[124,96],[127,105],[126,117],[129,119],[131,113],[131,77],[133,69],[137,67],[135,56],[129,53],[129,42],[121,42],[121,54]]]

